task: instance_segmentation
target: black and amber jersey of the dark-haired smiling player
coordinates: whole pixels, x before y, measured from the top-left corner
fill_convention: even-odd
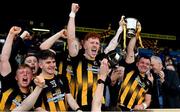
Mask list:
[[[70,93],[68,80],[65,75],[55,75],[45,79],[45,88],[41,92],[35,108],[42,107],[47,111],[66,111],[65,95]]]

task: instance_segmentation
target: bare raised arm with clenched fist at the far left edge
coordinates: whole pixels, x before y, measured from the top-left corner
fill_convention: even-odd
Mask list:
[[[1,52],[1,75],[3,77],[5,77],[6,75],[8,75],[12,69],[11,69],[11,65],[9,62],[9,58],[11,55],[11,50],[12,50],[12,44],[13,44],[13,40],[15,39],[15,37],[17,37],[17,35],[21,32],[21,28],[18,26],[13,26],[11,27],[11,29],[9,30],[9,33],[7,35],[6,41],[3,45],[2,48],[2,52]]]

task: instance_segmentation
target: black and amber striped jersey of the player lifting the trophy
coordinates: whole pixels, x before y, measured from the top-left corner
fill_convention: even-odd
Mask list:
[[[145,94],[151,94],[152,84],[147,76],[143,78],[140,75],[135,63],[125,67],[125,77],[121,84],[118,104],[132,109],[135,105],[144,101]]]

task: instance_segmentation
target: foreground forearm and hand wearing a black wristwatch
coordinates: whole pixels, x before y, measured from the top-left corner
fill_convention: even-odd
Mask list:
[[[109,73],[108,61],[107,59],[103,59],[101,61],[101,66],[100,66],[98,85],[96,87],[96,91],[93,96],[92,109],[91,109],[92,112],[101,111],[103,92],[104,92],[104,83],[105,83],[108,73]]]

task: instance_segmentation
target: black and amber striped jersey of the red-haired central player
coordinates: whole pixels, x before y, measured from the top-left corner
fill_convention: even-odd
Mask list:
[[[88,60],[84,55],[72,59],[74,98],[79,106],[90,105],[97,86],[99,65],[96,60]],[[71,77],[72,80],[72,77]]]

